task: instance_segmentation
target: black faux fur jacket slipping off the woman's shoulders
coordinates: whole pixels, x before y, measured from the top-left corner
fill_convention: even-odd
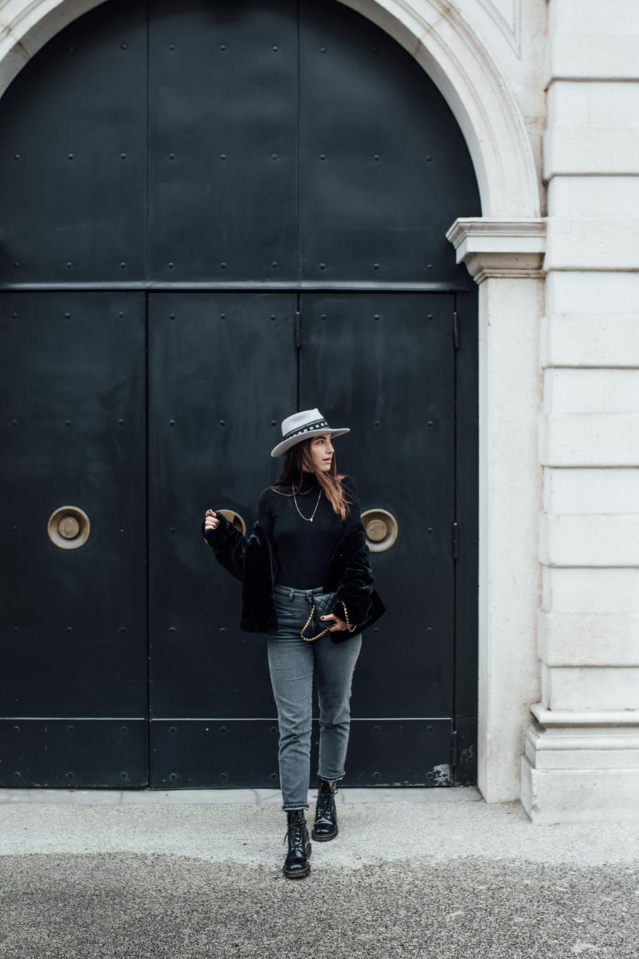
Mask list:
[[[273,583],[277,562],[268,536],[259,520],[247,537],[223,513],[217,512],[217,519],[219,526],[214,536],[207,538],[203,522],[201,530],[217,562],[242,584],[240,630],[243,633],[275,632],[278,621]],[[333,643],[341,643],[368,629],[386,612],[373,582],[366,532],[358,521],[337,542],[322,584],[325,593],[337,593],[331,612],[345,620],[343,602],[351,625],[355,626],[352,633],[346,629],[327,633]]]

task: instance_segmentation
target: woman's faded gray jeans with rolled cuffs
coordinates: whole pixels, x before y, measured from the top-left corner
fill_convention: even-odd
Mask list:
[[[322,593],[322,587],[296,590],[276,583],[274,589],[278,630],[268,634],[267,649],[280,731],[282,808],[308,809],[313,670],[320,713],[317,773],[334,782],[344,777],[351,684],[362,635],[349,634],[342,643],[333,643],[329,633],[310,643],[303,640],[300,630],[310,615],[312,596]]]

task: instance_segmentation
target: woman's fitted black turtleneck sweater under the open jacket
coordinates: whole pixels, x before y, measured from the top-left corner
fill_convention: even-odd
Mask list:
[[[351,511],[345,521],[333,510],[315,474],[303,474],[303,479],[296,485],[300,492],[296,492],[295,500],[303,516],[313,517],[312,523],[300,516],[291,486],[283,487],[280,492],[268,487],[262,490],[258,518],[274,546],[277,583],[298,590],[322,586],[337,541],[360,520],[359,491],[354,479],[346,477],[342,480],[342,487],[351,501]]]

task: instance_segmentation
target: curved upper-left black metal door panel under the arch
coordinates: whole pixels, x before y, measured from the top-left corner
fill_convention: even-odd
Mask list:
[[[0,283],[144,279],[147,4],[110,0],[0,99]]]

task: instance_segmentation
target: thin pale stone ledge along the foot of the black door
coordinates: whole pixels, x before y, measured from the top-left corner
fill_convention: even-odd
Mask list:
[[[317,789],[308,793],[308,802]],[[338,803],[468,803],[482,795],[475,786],[452,788],[371,788],[337,790]],[[279,789],[0,789],[1,803],[70,803],[82,806],[281,805]]]

